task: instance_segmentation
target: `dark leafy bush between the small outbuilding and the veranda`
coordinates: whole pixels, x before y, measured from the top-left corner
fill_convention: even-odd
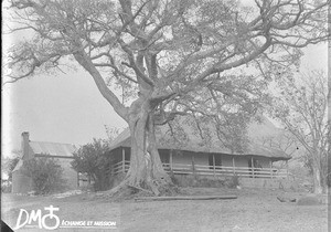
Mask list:
[[[108,184],[108,175],[111,171],[111,157],[106,157],[109,151],[108,141],[93,139],[93,143],[82,146],[74,155],[71,162],[77,172],[87,173],[94,181],[95,190],[105,190]]]

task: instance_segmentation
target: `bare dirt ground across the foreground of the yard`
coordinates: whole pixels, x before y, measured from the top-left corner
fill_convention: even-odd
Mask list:
[[[298,205],[277,196],[305,193],[257,189],[182,189],[184,194],[236,194],[234,200],[177,200],[114,202],[98,193],[56,199],[2,194],[1,218],[14,226],[20,209],[60,208],[61,220],[116,221],[118,231],[328,231],[330,204]],[[36,231],[23,228],[19,231]],[[58,231],[95,231],[58,229]],[[97,230],[103,231],[103,230]]]

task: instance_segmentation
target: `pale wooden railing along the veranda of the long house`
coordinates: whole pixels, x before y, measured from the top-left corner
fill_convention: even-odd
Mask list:
[[[287,169],[278,168],[249,168],[249,167],[226,167],[226,166],[202,166],[202,165],[182,165],[182,164],[162,164],[167,172],[178,175],[197,175],[197,176],[234,176],[248,178],[287,178]],[[119,161],[114,165],[113,173],[125,173],[129,170],[130,161]]]

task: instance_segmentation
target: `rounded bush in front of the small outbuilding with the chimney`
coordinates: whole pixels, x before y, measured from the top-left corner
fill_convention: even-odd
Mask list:
[[[60,192],[65,189],[63,169],[53,158],[36,157],[26,160],[23,164],[23,172],[32,178],[35,194]]]

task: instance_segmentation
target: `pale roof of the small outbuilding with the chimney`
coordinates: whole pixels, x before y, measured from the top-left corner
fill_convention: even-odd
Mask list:
[[[30,141],[29,145],[35,155],[72,157],[77,149],[75,145],[50,141]]]

